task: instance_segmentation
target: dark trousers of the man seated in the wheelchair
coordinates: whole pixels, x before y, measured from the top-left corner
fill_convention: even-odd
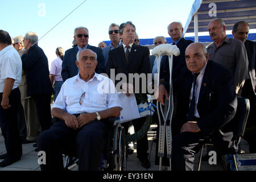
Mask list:
[[[64,121],[53,123],[38,138],[39,151],[46,152],[42,170],[63,170],[62,154],[77,156],[80,171],[98,171],[101,156],[108,140],[108,126],[104,121],[93,121],[73,130]]]

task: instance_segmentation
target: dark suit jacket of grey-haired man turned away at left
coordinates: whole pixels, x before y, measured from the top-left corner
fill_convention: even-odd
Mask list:
[[[31,46],[27,54],[22,55],[22,68],[26,74],[27,96],[53,93],[48,59],[37,44]]]

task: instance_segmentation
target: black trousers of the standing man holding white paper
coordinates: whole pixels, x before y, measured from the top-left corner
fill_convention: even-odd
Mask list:
[[[133,119],[133,126],[135,133],[141,130],[142,126],[144,125],[144,122],[146,120],[146,117]],[[125,127],[126,134],[128,132],[129,122],[122,123],[122,126]],[[137,155],[138,158],[143,160],[147,158],[148,156],[148,140],[147,140],[147,134],[144,135],[143,138],[137,140]]]

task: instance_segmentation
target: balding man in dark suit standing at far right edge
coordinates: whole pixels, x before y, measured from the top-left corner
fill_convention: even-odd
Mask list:
[[[246,123],[244,138],[249,143],[250,153],[256,153],[256,88],[255,88],[255,59],[256,43],[246,40],[249,34],[249,24],[240,21],[234,24],[232,34],[234,39],[241,40],[245,43],[248,58],[248,73],[246,75],[245,85],[242,88],[242,97],[250,100],[250,113]]]

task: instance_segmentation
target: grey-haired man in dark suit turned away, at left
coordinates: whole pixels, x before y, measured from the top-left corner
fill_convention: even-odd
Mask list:
[[[51,127],[52,84],[49,79],[48,59],[44,51],[38,47],[38,36],[27,32],[24,38],[22,68],[26,72],[27,96],[35,101],[36,112],[42,131]]]

